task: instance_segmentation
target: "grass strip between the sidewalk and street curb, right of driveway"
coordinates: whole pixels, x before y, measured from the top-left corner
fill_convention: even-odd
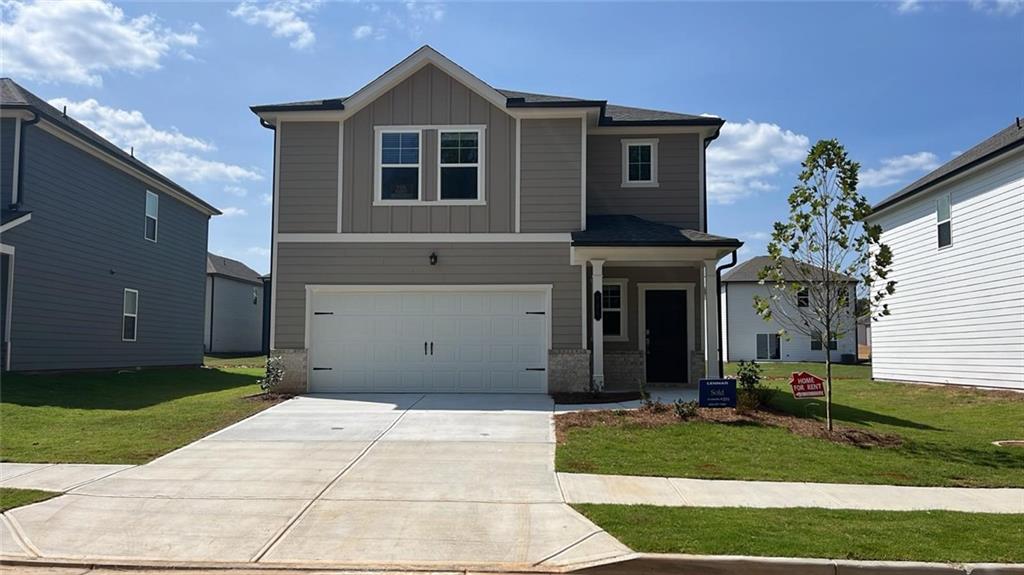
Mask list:
[[[636,551],[943,563],[1024,562],[1024,516],[573,505]]]

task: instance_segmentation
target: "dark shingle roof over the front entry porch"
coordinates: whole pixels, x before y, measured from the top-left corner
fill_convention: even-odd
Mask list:
[[[739,248],[733,237],[712,235],[637,216],[587,216],[587,229],[572,232],[573,246],[682,246]]]

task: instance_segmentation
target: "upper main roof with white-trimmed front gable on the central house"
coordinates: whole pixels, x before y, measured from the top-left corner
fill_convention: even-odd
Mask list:
[[[570,96],[553,96],[536,94],[516,90],[499,90],[473,76],[465,69],[455,63],[430,46],[423,46],[412,55],[398,62],[390,70],[367,84],[350,96],[326,98],[319,100],[303,100],[274,104],[254,105],[250,109],[254,114],[273,112],[312,112],[312,110],[354,110],[373,101],[377,96],[394,87],[420,68],[433,63],[450,76],[455,77],[485,99],[502,108],[537,108],[537,107],[579,107],[599,108],[598,125],[600,126],[711,126],[718,127],[725,123],[721,118],[713,116],[693,116],[674,112],[662,112],[642,107],[630,107],[609,104],[607,100],[591,100]]]

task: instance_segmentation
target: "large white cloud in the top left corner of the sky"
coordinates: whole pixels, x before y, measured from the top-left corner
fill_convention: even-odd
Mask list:
[[[170,53],[199,45],[195,27],[174,31],[103,0],[0,2],[5,76],[99,86],[102,75],[158,70]]]

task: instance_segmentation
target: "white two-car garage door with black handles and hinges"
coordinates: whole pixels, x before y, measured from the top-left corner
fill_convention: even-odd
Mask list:
[[[549,302],[546,286],[312,289],[310,391],[545,393]]]

